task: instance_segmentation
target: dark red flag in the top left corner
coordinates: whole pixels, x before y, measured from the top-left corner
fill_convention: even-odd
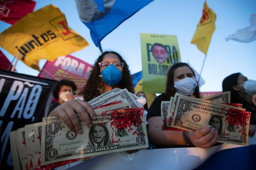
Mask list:
[[[0,0],[0,20],[14,24],[33,12],[35,5],[36,2],[32,0]]]

